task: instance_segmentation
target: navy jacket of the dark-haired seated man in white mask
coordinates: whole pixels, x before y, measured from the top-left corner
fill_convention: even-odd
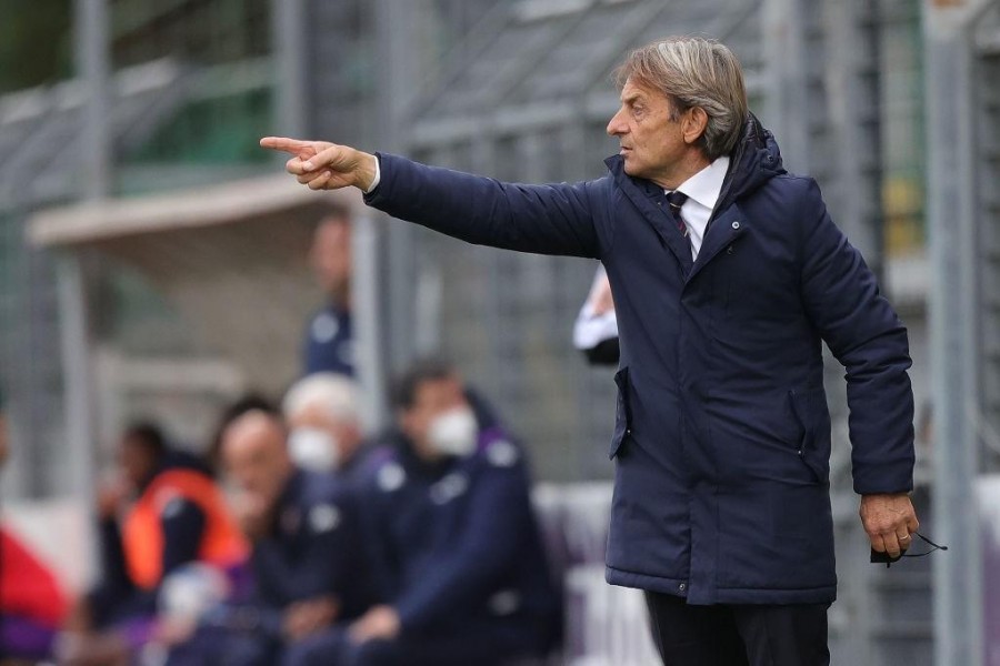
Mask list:
[[[433,465],[409,444],[383,451],[361,503],[380,596],[404,635],[459,636],[472,623],[539,648],[556,635],[530,487],[521,450],[498,428],[476,453]]]

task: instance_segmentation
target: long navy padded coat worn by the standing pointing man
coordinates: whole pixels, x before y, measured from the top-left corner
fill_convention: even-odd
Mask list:
[[[752,117],[692,262],[623,172],[523,185],[380,155],[368,203],[466,241],[600,259],[621,340],[608,581],[689,603],[836,595],[822,342],[844,365],[854,490],[912,487],[907,333],[816,182]]]

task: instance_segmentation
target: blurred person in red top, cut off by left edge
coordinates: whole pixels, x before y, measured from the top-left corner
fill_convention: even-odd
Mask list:
[[[0,393],[0,472],[10,453]],[[69,612],[59,579],[7,526],[0,524],[0,663],[52,656]]]

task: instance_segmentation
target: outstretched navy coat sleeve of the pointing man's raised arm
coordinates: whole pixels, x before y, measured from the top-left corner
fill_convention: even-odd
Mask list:
[[[602,181],[503,183],[378,154],[382,178],[364,201],[393,218],[474,243],[537,254],[600,256]]]

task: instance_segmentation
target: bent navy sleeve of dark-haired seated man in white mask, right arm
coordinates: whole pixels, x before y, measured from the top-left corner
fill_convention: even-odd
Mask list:
[[[516,562],[523,535],[534,528],[521,464],[490,467],[469,492],[460,543],[393,604],[404,632],[419,632],[484,599]]]

